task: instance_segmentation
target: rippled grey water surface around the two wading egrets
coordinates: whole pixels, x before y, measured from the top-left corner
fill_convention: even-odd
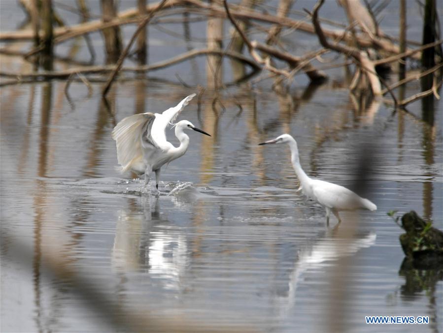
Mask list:
[[[355,111],[340,71],[287,93],[270,81],[233,87],[215,111],[205,92],[180,119],[212,137],[190,134],[157,198],[115,171],[110,133],[125,116],[194,93],[158,79],[181,70],[199,83],[188,65],[116,85],[109,106],[98,83],[88,96],[73,82],[70,100],[61,81],[1,88],[1,331],[139,331],[159,321],[189,331],[442,332],[442,272],[401,268],[401,230],[386,215],[414,209],[442,228],[442,103]],[[433,122],[421,120],[429,114]],[[366,159],[365,196],[378,210],[327,228],[323,209],[295,193],[287,147],[257,146],[285,132],[321,179],[353,186]],[[430,324],[369,326],[368,315]]]

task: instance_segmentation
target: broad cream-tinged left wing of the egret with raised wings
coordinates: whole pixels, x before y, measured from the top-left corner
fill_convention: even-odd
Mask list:
[[[158,146],[152,140],[151,128],[155,119],[153,113],[139,113],[124,118],[112,130],[112,138],[117,146],[118,163],[122,171],[135,170],[144,172],[143,150],[153,151]]]

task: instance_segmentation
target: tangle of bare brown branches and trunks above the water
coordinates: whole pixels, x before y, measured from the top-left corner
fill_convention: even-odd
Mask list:
[[[431,0],[432,3],[434,0]],[[442,39],[438,35],[433,38],[423,38],[429,43],[417,47],[415,49],[408,49],[405,45],[407,43],[405,32],[400,38],[397,36],[388,36],[378,27],[376,15],[379,14],[380,8],[374,10],[370,6],[365,7],[359,0],[341,0],[339,1],[343,10],[348,17],[348,27],[346,29],[330,30],[321,26],[321,22],[327,21],[328,24],[334,24],[331,20],[324,20],[320,18],[321,7],[324,0],[318,0],[312,8],[312,11],[305,9],[307,16],[304,20],[297,20],[289,16],[292,1],[281,0],[276,8],[275,14],[270,12],[263,13],[259,6],[255,6],[255,1],[241,1],[240,4],[228,3],[223,1],[204,2],[201,0],[163,0],[157,3],[146,5],[145,0],[138,0],[137,8],[131,8],[125,11],[118,12],[116,2],[114,0],[101,0],[102,5],[102,20],[90,20],[92,16],[87,12],[88,9],[83,1],[78,1],[79,8],[77,9],[83,17],[81,23],[72,26],[60,26],[53,28],[54,24],[48,17],[58,17],[53,11],[53,1],[42,1],[41,9],[37,8],[34,1],[29,5],[24,6],[28,11],[31,29],[19,30],[15,32],[0,32],[0,41],[8,41],[5,47],[0,49],[3,54],[18,54],[25,55],[25,59],[35,59],[39,57],[40,53],[46,55],[53,54],[56,59],[57,55],[53,50],[56,46],[64,41],[79,36],[85,36],[87,47],[91,53],[92,61],[95,59],[95,51],[92,43],[89,40],[88,34],[96,31],[102,31],[102,36],[105,45],[106,63],[116,65],[91,65],[82,67],[71,67],[65,70],[51,70],[51,66],[45,66],[45,70],[35,72],[11,72],[4,70],[0,71],[1,77],[8,77],[16,79],[16,83],[31,82],[33,80],[43,79],[72,79],[75,77],[82,77],[82,82],[89,82],[88,75],[102,76],[102,80],[107,80],[103,87],[102,95],[105,96],[109,91],[111,84],[118,80],[118,74],[124,72],[147,73],[149,71],[160,70],[166,67],[173,66],[180,62],[188,61],[194,57],[205,55],[208,58],[207,71],[207,85],[211,89],[223,89],[223,58],[229,57],[239,66],[233,65],[233,69],[241,72],[241,77],[248,77],[251,72],[246,73],[243,66],[248,65],[252,68],[252,72],[268,71],[274,77],[280,77],[286,80],[288,84],[295,79],[295,75],[299,71],[304,72],[311,82],[322,83],[327,80],[327,74],[314,65],[314,61],[318,60],[324,62],[320,58],[322,54],[333,52],[340,54],[342,57],[349,58],[353,61],[355,66],[353,79],[349,84],[349,92],[351,95],[363,94],[367,87],[371,88],[372,95],[377,97],[389,93],[396,106],[402,106],[406,102],[410,102],[433,94],[436,98],[439,96],[437,87],[441,85],[441,77],[438,75],[441,71],[442,59],[439,57],[439,49],[441,49]],[[257,2],[258,3],[258,2]],[[436,25],[436,15],[431,10],[430,14],[427,12],[426,17],[429,22],[424,23],[424,29],[429,31],[430,26]],[[41,12],[39,12],[39,10]],[[75,10],[75,8],[71,8]],[[146,63],[146,52],[149,47],[149,41],[145,32],[146,25],[156,24],[158,17],[175,16],[178,11],[188,13],[187,20],[190,20],[189,14],[197,14],[199,17],[206,16],[208,20],[208,35],[206,49],[190,49],[187,52],[179,54],[169,60],[160,61],[153,64]],[[298,14],[300,15],[300,14]],[[42,20],[41,18],[46,17]],[[217,23],[217,27],[222,27],[222,21],[228,19],[235,29],[235,34],[232,35],[232,42],[240,43],[236,47],[228,46],[223,50],[222,42],[227,39],[223,35],[223,30],[212,29],[213,24]],[[215,21],[214,21],[215,20]],[[308,22],[310,20],[311,22]],[[59,18],[58,21],[61,21]],[[245,22],[253,23],[256,31],[263,33],[263,39],[266,43],[262,43],[259,39],[251,40],[249,31],[246,27],[251,26]],[[121,45],[124,41],[120,41],[119,27],[127,24],[138,24],[136,32],[133,34],[131,40],[127,43],[125,49],[121,50]],[[162,23],[164,24],[164,23]],[[271,29],[269,28],[269,25]],[[343,27],[342,24],[335,24],[338,27]],[[211,30],[212,29],[212,30]],[[287,51],[286,45],[281,38],[284,33],[291,33],[295,30],[313,34],[318,38],[321,46],[318,51],[308,52],[302,56],[296,56]],[[432,30],[432,29],[431,29]],[[438,31],[438,29],[434,29]],[[188,37],[189,38],[189,32]],[[137,39],[137,59],[138,66],[124,66],[124,61],[128,62],[131,54],[131,47]],[[235,40],[237,39],[237,41]],[[438,39],[438,40],[436,40]],[[89,42],[88,42],[89,40]],[[394,41],[401,40],[402,45],[397,45]],[[16,42],[34,42],[30,43],[31,51],[21,52],[16,49],[12,50],[9,46]],[[214,41],[216,41],[214,43]],[[246,55],[241,52],[241,44],[246,45]],[[411,44],[419,44],[408,43]],[[434,50],[436,52],[425,53],[426,50]],[[400,52],[402,50],[403,52]],[[407,76],[407,78],[399,78],[395,83],[387,83],[377,73],[377,67],[386,64],[404,64],[405,61],[415,61],[426,57],[426,54],[432,54],[432,61],[425,62],[425,64],[436,64],[426,68],[422,73],[414,76]],[[376,55],[376,56],[374,56]],[[59,57],[60,58],[60,57]],[[127,59],[128,58],[128,59]],[[409,60],[408,60],[409,59]],[[64,59],[68,62],[69,59]],[[33,61],[35,63],[35,61]],[[40,62],[42,64],[42,62]],[[77,62],[78,63],[78,62]],[[347,62],[346,62],[347,63]],[[72,59],[72,64],[75,60]],[[285,64],[281,66],[279,64]],[[346,65],[347,66],[347,65]],[[334,66],[330,66],[334,67]],[[243,68],[243,69],[242,69]],[[38,69],[38,68],[36,68]],[[80,76],[81,75],[81,76]],[[402,97],[400,101],[394,95],[393,90],[409,81],[432,75],[434,78],[428,80],[430,85],[426,86],[423,92],[417,92],[411,97]],[[105,76],[105,77],[103,77]],[[235,75],[236,79],[239,75]],[[3,84],[11,84],[11,81]],[[279,83],[278,83],[279,84]],[[381,87],[384,86],[383,90]],[[69,87],[69,85],[68,85]],[[360,92],[360,93],[357,93]],[[430,92],[430,93],[429,93]]]

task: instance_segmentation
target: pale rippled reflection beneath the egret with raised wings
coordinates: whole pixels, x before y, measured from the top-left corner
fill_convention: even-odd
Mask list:
[[[178,290],[187,266],[186,235],[161,212],[159,197],[131,198],[127,207],[116,223],[112,266],[118,272],[149,272],[164,289]]]

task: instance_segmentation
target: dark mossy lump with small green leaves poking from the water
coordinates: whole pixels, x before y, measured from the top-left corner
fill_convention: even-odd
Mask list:
[[[406,233],[400,235],[403,252],[409,259],[441,262],[443,261],[443,232],[432,227],[411,210],[402,217]]]

